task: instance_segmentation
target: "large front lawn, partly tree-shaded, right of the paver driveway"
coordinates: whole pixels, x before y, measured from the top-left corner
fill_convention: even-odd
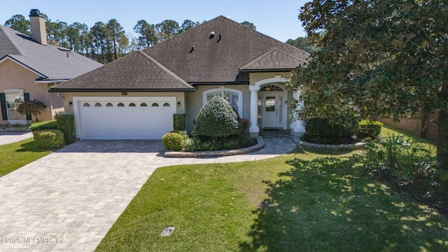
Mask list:
[[[296,152],[157,169],[97,251],[448,251],[447,218],[372,179],[360,151]]]

